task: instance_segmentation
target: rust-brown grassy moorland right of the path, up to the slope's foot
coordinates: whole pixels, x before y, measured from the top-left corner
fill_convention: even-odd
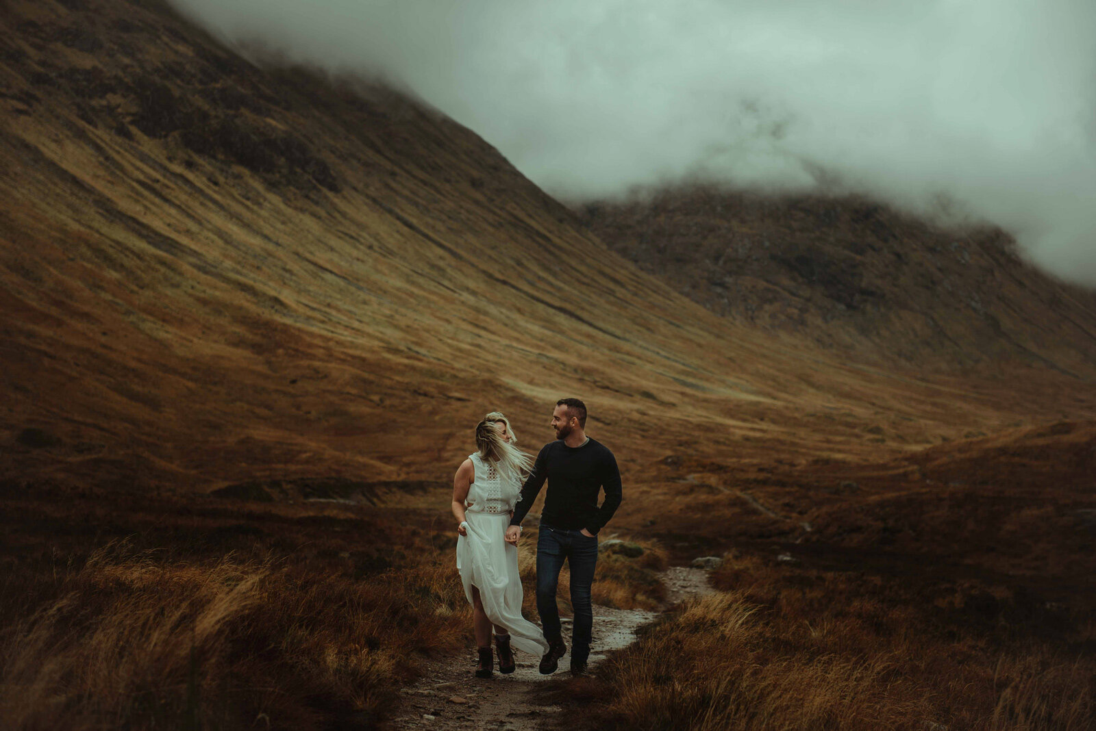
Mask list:
[[[631,509],[675,560],[723,554],[720,593],[549,696],[598,729],[1096,728],[1093,445],[1059,422],[879,464],[663,460]]]

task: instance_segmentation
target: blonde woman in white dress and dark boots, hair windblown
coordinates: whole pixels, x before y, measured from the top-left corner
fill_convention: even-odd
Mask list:
[[[457,518],[457,570],[472,604],[472,626],[479,647],[477,677],[491,677],[491,627],[499,649],[499,672],[516,663],[511,643],[537,658],[548,650],[540,629],[522,617],[522,578],[517,544],[506,543],[506,527],[533,466],[514,444],[510,421],[499,411],[476,426],[476,449],[453,478],[453,514]]]

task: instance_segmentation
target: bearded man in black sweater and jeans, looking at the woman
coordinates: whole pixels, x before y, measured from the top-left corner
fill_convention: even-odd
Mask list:
[[[551,415],[556,441],[544,445],[522,487],[522,499],[506,529],[506,541],[516,544],[522,520],[548,480],[540,536],[537,538],[537,611],[548,652],[540,672],[556,672],[567,652],[560,633],[556,584],[567,560],[571,567],[571,606],[574,626],[571,638],[571,673],[581,675],[590,657],[590,635],[594,624],[591,587],[597,565],[597,532],[620,504],[620,471],[604,444],[586,437],[586,406],[578,398],[561,398]],[[597,492],[605,500],[597,507]]]

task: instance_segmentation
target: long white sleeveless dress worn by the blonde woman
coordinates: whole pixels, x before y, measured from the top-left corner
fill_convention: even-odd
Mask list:
[[[521,483],[516,475],[500,474],[479,454],[469,459],[476,475],[465,499],[468,535],[457,536],[457,570],[465,596],[471,602],[472,587],[479,589],[483,613],[510,631],[511,646],[539,658],[548,651],[548,642],[540,628],[522,616],[517,546],[505,539]]]

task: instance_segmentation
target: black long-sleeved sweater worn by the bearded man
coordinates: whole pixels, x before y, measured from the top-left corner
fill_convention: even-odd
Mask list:
[[[568,446],[558,439],[545,444],[537,455],[522,486],[522,499],[514,506],[511,525],[522,524],[546,479],[548,492],[540,521],[552,527],[584,527],[596,535],[620,504],[620,471],[613,452],[593,439],[582,446]],[[597,492],[603,487],[605,500],[598,508]]]

